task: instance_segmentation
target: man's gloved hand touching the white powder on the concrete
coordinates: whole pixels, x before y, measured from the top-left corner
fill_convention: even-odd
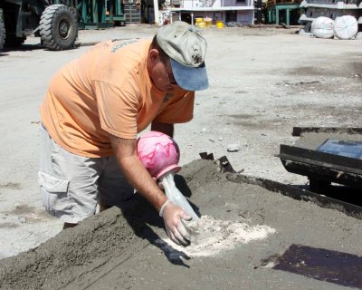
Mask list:
[[[167,236],[176,244],[182,246],[190,245],[190,237],[181,222],[181,218],[190,221],[192,218],[186,211],[169,201],[163,210],[162,218],[166,227]]]

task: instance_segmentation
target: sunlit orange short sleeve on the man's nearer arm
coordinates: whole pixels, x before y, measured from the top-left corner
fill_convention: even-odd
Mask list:
[[[124,139],[137,138],[139,100],[131,87],[119,87],[109,83],[93,83],[100,114],[100,126],[110,134]]]

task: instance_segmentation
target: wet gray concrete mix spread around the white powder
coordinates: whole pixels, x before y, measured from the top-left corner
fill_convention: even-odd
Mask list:
[[[211,160],[195,160],[176,185],[201,216],[275,229],[211,256],[167,244],[162,220],[135,195],[62,231],[41,246],[0,260],[1,289],[343,289],[265,266],[291,244],[361,255],[361,220],[260,186],[232,182]],[[191,245],[190,247],[193,247]]]

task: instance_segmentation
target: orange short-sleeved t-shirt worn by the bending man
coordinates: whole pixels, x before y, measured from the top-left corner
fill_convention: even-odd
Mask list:
[[[147,70],[151,41],[98,43],[52,78],[41,119],[52,139],[85,157],[113,154],[110,134],[135,139],[152,121],[193,118],[195,92],[161,92]]]

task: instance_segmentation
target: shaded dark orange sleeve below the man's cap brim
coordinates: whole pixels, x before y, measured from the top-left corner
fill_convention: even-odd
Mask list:
[[[191,121],[194,117],[194,102],[195,92],[184,92],[178,98],[171,97],[165,107],[161,107],[154,121],[167,124]]]

